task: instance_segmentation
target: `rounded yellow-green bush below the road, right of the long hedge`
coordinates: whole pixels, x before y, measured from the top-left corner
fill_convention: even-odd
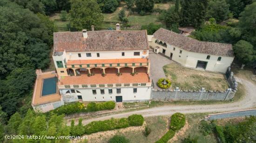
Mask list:
[[[170,130],[178,131],[186,123],[185,115],[182,113],[175,113],[171,117]]]

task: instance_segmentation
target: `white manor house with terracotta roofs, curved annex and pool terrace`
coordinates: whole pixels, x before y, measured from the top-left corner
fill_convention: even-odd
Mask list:
[[[201,42],[166,29],[82,30],[54,33],[56,71],[37,70],[32,106],[47,112],[74,101],[134,102],[150,100],[150,54],[182,66],[225,73],[234,54],[231,44]],[[157,82],[157,81],[153,81]]]

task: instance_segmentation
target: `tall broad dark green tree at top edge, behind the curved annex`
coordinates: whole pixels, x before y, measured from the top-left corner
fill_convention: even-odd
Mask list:
[[[208,0],[182,0],[181,7],[180,24],[199,27],[204,22]]]

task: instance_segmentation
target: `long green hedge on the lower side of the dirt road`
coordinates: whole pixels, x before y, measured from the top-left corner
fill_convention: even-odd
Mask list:
[[[141,120],[144,121],[144,118],[141,115],[131,115],[128,118],[120,118],[120,119],[108,119],[104,121],[94,121],[84,126],[85,134],[91,134],[99,131],[109,131],[121,128],[127,128],[129,126],[140,126],[143,124]],[[135,121],[138,121],[138,124],[135,124]]]

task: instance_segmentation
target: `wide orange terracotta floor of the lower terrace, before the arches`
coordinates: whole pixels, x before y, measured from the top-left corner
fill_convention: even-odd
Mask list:
[[[123,73],[120,76],[116,74],[106,74],[103,77],[101,74],[95,74],[88,77],[81,76],[65,76],[61,77],[61,85],[76,85],[76,84],[115,84],[115,83],[147,83],[149,82],[147,73],[138,73],[137,75],[130,75],[130,73]]]

